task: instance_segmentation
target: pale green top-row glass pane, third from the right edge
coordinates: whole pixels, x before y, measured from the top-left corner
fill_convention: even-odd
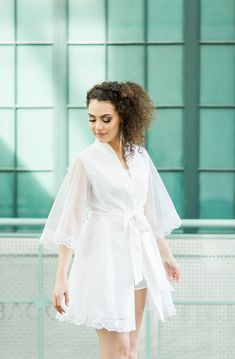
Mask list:
[[[142,0],[109,0],[108,40],[143,41],[144,11]]]

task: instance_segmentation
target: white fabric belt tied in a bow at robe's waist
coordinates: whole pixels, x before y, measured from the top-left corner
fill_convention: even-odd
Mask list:
[[[144,209],[140,208],[131,212],[107,212],[97,208],[89,207],[87,218],[92,216],[114,216],[123,219],[123,229],[128,232],[131,261],[133,267],[135,285],[143,280],[142,262],[142,240],[143,233],[151,231],[151,227],[144,214]]]

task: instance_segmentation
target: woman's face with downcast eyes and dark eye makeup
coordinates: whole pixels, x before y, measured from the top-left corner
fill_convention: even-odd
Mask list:
[[[89,127],[100,142],[119,140],[122,120],[110,101],[91,100],[88,116]]]

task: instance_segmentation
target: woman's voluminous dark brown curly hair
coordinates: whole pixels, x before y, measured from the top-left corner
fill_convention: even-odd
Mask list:
[[[122,145],[125,156],[134,154],[134,146],[145,146],[145,131],[154,118],[154,104],[144,88],[135,82],[104,81],[93,86],[86,96],[90,100],[110,101],[122,118]]]

